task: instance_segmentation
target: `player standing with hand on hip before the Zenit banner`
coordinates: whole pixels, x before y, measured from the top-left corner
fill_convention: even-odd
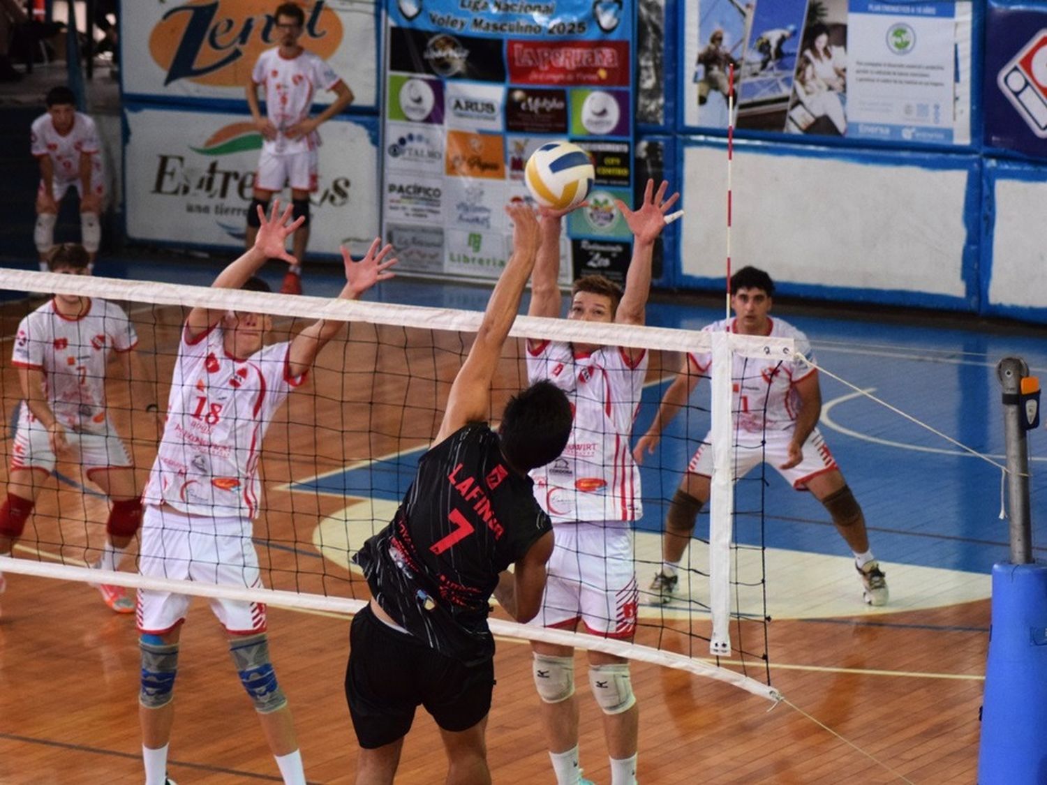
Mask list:
[[[334,117],[353,100],[353,91],[319,57],[298,45],[306,21],[294,3],[283,3],[273,14],[280,46],[259,55],[247,83],[247,106],[254,127],[264,137],[259,167],[254,174],[254,200],[247,210],[247,247],[254,245],[258,207],[269,208],[273,194],[291,186],[294,217],[303,221],[294,232],[292,252],[296,262],[288,268],[284,294],[302,294],[302,265],[309,244],[309,195],[316,190],[316,128]],[[266,113],[259,107],[258,88],[265,88]],[[317,90],[331,90],[334,102],[315,117],[309,116]]]

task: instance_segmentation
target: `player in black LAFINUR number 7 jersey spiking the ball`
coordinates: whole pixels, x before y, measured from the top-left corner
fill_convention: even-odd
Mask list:
[[[486,419],[491,381],[534,268],[534,212],[506,207],[513,253],[459,371],[433,447],[396,517],[356,557],[371,587],[353,620],[346,696],[360,744],[356,782],[392,783],[415,710],[440,726],[448,783],[489,783],[484,733],[494,687],[493,593],[517,621],[538,612],[553,526],[528,472],[566,446],[572,412],[549,382]],[[508,567],[514,564],[513,573]]]

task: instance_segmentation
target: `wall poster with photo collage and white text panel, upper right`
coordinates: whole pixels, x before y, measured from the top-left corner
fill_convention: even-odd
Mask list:
[[[683,125],[971,141],[970,0],[686,0]]]

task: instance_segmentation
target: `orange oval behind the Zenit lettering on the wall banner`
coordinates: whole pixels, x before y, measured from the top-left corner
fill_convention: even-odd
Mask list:
[[[164,86],[190,80],[242,87],[258,55],[277,43],[272,0],[190,0],[163,15],[149,37],[154,62],[166,71]],[[306,9],[300,43],[324,60],[342,40],[338,15],[316,0]]]

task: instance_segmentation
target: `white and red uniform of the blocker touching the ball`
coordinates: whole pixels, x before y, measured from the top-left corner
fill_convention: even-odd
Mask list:
[[[553,382],[567,394],[575,416],[560,457],[531,472],[535,497],[556,532],[535,624],[581,620],[608,637],[629,637],[636,629],[629,523],[643,506],[629,436],[647,362],[646,353],[633,362],[617,346],[583,355],[569,343],[528,345],[529,381]]]

